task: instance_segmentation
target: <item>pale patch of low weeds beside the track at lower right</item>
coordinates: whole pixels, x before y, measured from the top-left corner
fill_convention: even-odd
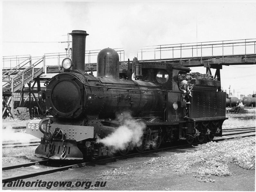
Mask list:
[[[132,175],[133,171],[142,168],[148,169],[149,174],[160,174],[168,170],[178,176],[192,173],[200,182],[215,182],[211,178],[212,175],[232,175],[228,168],[229,163],[237,164],[247,170],[255,170],[255,139],[245,138],[218,143],[209,142],[193,153],[185,152],[176,153],[173,156],[154,157],[139,166],[120,167],[103,172],[101,179],[114,179],[120,176]]]

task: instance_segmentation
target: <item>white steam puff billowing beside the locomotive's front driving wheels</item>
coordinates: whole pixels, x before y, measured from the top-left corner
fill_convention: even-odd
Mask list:
[[[127,148],[129,144],[131,144],[132,147],[136,145],[140,146],[142,144],[141,138],[146,124],[134,119],[129,113],[120,114],[117,116],[117,119],[122,121],[122,125],[107,137],[103,139],[98,138],[96,142],[102,143],[114,151],[123,150]]]

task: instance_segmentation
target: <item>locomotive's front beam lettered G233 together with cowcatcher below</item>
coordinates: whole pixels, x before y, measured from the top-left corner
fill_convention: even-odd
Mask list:
[[[77,142],[94,138],[94,127],[51,123],[50,118],[45,118],[39,124],[26,125],[28,134],[41,139],[35,150],[36,156],[54,160],[83,160]]]

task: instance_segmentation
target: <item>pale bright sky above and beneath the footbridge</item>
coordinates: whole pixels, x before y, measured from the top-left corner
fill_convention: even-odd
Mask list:
[[[67,34],[86,30],[86,50],[256,38],[256,1],[3,1],[2,56],[65,52]],[[203,67],[192,72],[205,73]],[[256,65],[223,66],[222,87],[252,94]]]

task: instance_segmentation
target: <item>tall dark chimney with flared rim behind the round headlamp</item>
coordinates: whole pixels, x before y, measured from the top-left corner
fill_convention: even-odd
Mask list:
[[[73,30],[72,33],[72,68],[71,70],[85,73],[85,39],[86,31]]]

